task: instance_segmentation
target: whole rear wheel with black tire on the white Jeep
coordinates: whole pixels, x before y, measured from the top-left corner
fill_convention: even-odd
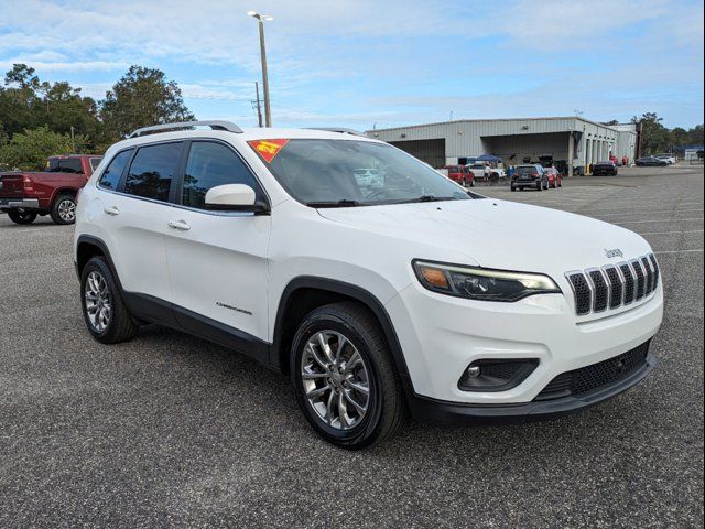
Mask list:
[[[80,307],[88,331],[101,344],[127,342],[139,330],[102,257],[91,258],[80,273]]]

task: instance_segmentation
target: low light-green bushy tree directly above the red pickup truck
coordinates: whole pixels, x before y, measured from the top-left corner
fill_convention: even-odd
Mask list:
[[[24,171],[41,170],[46,158],[85,149],[88,139],[76,136],[74,142],[68,134],[53,132],[48,127],[25,130],[0,144],[0,163]]]

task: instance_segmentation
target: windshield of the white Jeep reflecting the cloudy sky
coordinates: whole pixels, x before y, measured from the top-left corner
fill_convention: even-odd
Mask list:
[[[278,141],[283,144],[270,171],[291,196],[313,207],[470,199],[441,173],[386,143]]]

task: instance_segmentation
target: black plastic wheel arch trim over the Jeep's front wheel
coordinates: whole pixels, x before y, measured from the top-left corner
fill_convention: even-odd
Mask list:
[[[289,282],[280,298],[274,321],[274,336],[270,353],[272,366],[283,373],[288,373],[291,339],[301,319],[318,306],[339,301],[357,301],[375,315],[387,338],[392,354],[394,370],[400,376],[404,387],[409,389],[411,380],[406,369],[406,361],[384,305],[366,289],[335,279],[301,276]]]

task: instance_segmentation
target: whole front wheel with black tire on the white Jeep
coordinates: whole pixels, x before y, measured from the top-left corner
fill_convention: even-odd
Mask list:
[[[403,424],[403,391],[389,346],[359,303],[311,312],[294,336],[290,373],[304,417],[329,443],[364,449]]]

